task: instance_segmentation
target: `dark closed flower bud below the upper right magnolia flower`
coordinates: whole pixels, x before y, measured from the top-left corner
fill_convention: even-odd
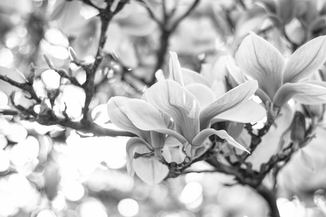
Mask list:
[[[297,111],[294,115],[294,118],[290,127],[290,138],[293,142],[301,143],[305,139],[305,118],[304,115]]]

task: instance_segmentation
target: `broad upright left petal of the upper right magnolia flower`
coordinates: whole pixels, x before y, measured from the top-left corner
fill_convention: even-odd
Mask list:
[[[245,74],[256,79],[259,88],[273,98],[282,85],[284,58],[263,38],[250,34],[242,41],[236,61]]]

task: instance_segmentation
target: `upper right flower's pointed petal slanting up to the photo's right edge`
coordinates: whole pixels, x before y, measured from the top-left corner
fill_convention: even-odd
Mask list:
[[[319,36],[297,49],[285,64],[283,82],[297,82],[316,72],[326,61],[326,36]]]

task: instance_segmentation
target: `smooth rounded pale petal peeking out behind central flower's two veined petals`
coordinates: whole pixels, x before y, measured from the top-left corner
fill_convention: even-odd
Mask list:
[[[213,90],[206,85],[192,83],[186,85],[185,88],[196,97],[200,104],[200,108],[204,108],[216,99]]]

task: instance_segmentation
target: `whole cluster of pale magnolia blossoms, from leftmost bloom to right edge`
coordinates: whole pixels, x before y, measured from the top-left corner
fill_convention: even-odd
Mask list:
[[[169,172],[160,163],[162,159],[177,163],[192,161],[210,147],[207,139],[213,134],[247,151],[225,130],[211,129],[216,122],[257,122],[266,115],[266,104],[281,108],[291,98],[304,104],[325,103],[325,82],[301,82],[326,61],[325,38],[311,40],[286,61],[261,37],[247,36],[238,49],[236,61],[229,58],[227,63],[239,84],[227,92],[223,81],[208,79],[212,77],[209,74],[218,72],[206,68],[199,74],[181,68],[176,53],[170,52],[168,78],[159,70],[158,82],[141,99],[116,96],[108,102],[111,122],[138,136],[126,145],[129,175],[136,173],[147,183],[159,183]],[[264,103],[250,100],[253,94]],[[178,157],[172,150],[179,150]]]

